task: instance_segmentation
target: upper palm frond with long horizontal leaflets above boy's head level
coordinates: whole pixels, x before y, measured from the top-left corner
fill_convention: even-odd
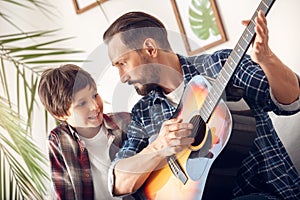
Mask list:
[[[58,59],[61,55],[81,53],[82,51],[52,47],[53,45],[58,45],[58,43],[69,40],[72,37],[54,39],[40,43],[34,43],[33,41],[35,40],[32,40],[35,38],[40,39],[41,37],[46,37],[48,34],[53,34],[56,31],[58,30],[34,31],[0,36],[0,47],[2,49],[0,51],[0,58],[3,69],[3,73],[0,73],[0,75],[3,90],[6,92],[6,97],[10,100],[11,94],[8,90],[9,83],[5,76],[7,70],[5,69],[7,68],[5,66],[14,67],[17,82],[17,111],[21,112],[21,102],[24,102],[21,101],[22,98],[25,100],[28,130],[30,129],[32,113],[34,110],[38,77],[40,72],[43,71],[44,66],[54,63],[82,62],[82,60],[75,59]],[[24,41],[29,44],[27,46],[18,47],[19,43],[24,43]],[[51,59],[51,57],[53,58]],[[23,87],[23,90],[20,90],[20,87]],[[24,92],[23,96],[20,96],[21,91]]]

